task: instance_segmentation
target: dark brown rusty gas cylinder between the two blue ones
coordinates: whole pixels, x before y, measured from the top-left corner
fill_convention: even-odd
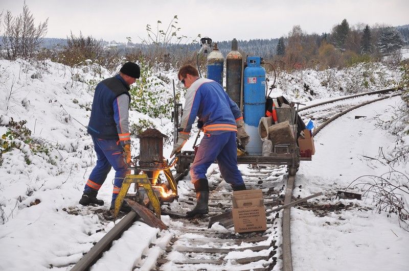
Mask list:
[[[241,68],[243,57],[237,51],[237,39],[232,40],[232,51],[226,57],[226,92],[240,107],[241,102]]]

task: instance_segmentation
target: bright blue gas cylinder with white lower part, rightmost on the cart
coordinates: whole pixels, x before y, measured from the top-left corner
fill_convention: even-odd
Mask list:
[[[261,155],[263,142],[260,139],[258,125],[265,115],[265,69],[260,65],[261,57],[247,57],[243,80],[244,128],[250,136],[246,151],[250,155]]]

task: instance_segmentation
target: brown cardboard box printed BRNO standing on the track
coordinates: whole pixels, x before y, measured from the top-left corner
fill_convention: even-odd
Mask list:
[[[267,229],[261,189],[233,191],[232,198],[235,232],[255,232]]]

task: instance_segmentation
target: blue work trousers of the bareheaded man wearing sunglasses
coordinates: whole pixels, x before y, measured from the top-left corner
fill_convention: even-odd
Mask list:
[[[190,166],[193,184],[199,179],[207,179],[206,172],[216,159],[220,173],[227,183],[234,186],[244,183],[237,167],[236,134],[236,132],[205,134],[197,149],[195,160]]]

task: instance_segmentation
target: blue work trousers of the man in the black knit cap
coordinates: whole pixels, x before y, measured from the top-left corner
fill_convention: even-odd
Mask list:
[[[118,196],[122,182],[127,174],[130,174],[128,165],[122,156],[122,146],[115,139],[101,139],[91,136],[94,142],[94,149],[97,153],[97,163],[89,175],[85,184],[84,193],[99,190],[105,182],[111,167],[115,169],[115,180],[113,181],[112,203]],[[117,143],[118,142],[118,143]]]

